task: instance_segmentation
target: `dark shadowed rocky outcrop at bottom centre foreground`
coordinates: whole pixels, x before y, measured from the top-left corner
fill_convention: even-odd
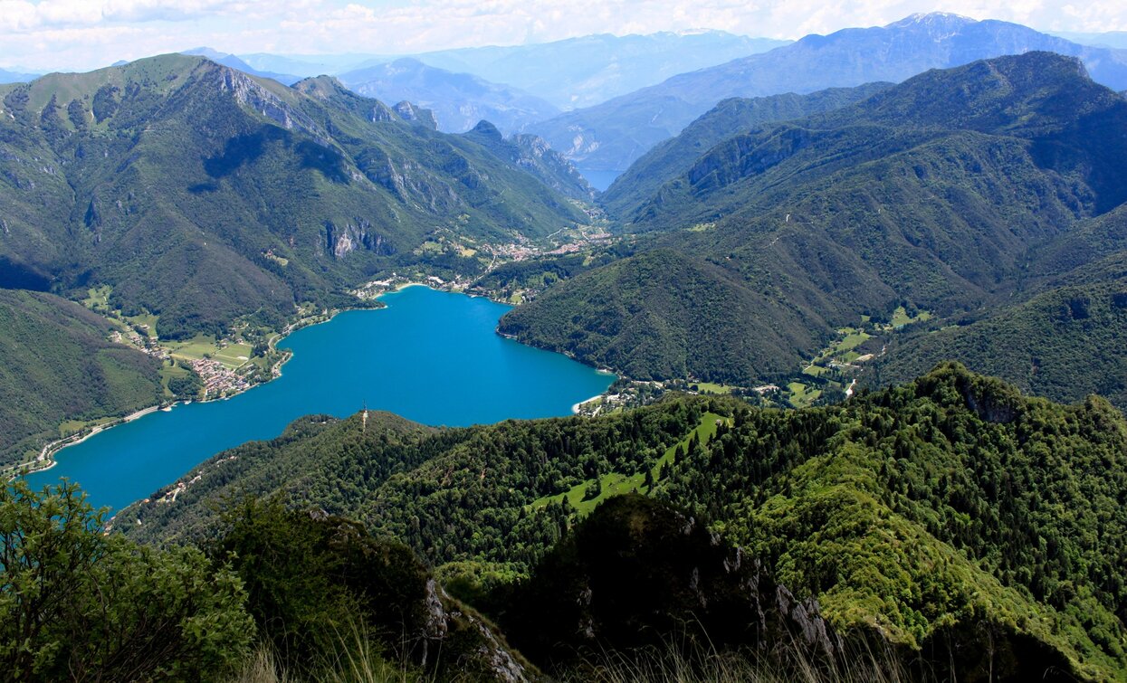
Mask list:
[[[609,499],[530,580],[489,600],[512,642],[541,666],[669,642],[796,642],[814,658],[844,650],[816,601],[796,598],[696,520],[637,495]]]

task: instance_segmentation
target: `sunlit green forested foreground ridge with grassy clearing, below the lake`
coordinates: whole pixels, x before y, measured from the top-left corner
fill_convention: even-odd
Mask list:
[[[206,539],[222,500],[267,493],[299,509],[352,516],[409,544],[503,628],[516,624],[514,642],[541,665],[551,664],[545,647],[637,639],[644,629],[627,624],[659,622],[664,612],[636,605],[631,588],[605,592],[625,578],[615,565],[632,566],[639,587],[665,586],[653,588],[660,595],[650,604],[678,600],[676,577],[696,576],[687,589],[712,594],[727,579],[709,558],[730,539],[740,552],[722,562],[728,571],[761,568],[796,601],[815,598],[834,631],[879,635],[941,680],[993,667],[1019,681],[1023,666],[1039,678],[1050,665],[1075,678],[1117,680],[1127,671],[1118,571],[1127,561],[1125,454],[1127,422],[1107,401],[1029,399],[950,364],[815,409],[680,398],[596,418],[464,429],[374,413],[311,417],[277,440],[216,455],[123,511],[115,529],[149,542]],[[172,490],[175,499],[165,495]],[[647,544],[639,536],[660,538],[668,513],[646,517],[639,505],[604,503],[628,491],[687,511],[673,525],[684,538]],[[600,503],[619,512],[587,517]],[[675,552],[696,542],[701,521],[718,532],[709,541],[716,550]],[[576,524],[580,538],[568,539]],[[607,552],[613,539],[619,551]],[[505,584],[522,600],[506,600],[514,593]],[[587,597],[565,609],[561,601],[584,587]],[[603,602],[614,596],[616,610]],[[702,619],[716,617],[712,601],[694,604]],[[557,622],[530,631],[538,611]],[[609,617],[569,628],[584,614]]]

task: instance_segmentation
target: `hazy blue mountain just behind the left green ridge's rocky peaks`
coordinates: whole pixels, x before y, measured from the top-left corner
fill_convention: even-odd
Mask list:
[[[414,59],[349,71],[339,78],[361,95],[426,107],[435,113],[438,128],[451,133],[463,133],[482,119],[511,133],[527,122],[558,113],[547,101],[515,88],[427,66]]]

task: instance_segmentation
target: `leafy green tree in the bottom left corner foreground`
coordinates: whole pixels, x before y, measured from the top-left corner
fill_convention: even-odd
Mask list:
[[[246,594],[198,550],[101,533],[78,486],[0,487],[0,669],[16,680],[214,680],[254,637]]]

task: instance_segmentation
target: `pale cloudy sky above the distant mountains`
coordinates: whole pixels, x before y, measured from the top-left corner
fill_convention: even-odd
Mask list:
[[[0,0],[0,68],[91,69],[208,46],[398,54],[593,33],[798,38],[943,10],[1041,30],[1127,30],[1124,0]]]

